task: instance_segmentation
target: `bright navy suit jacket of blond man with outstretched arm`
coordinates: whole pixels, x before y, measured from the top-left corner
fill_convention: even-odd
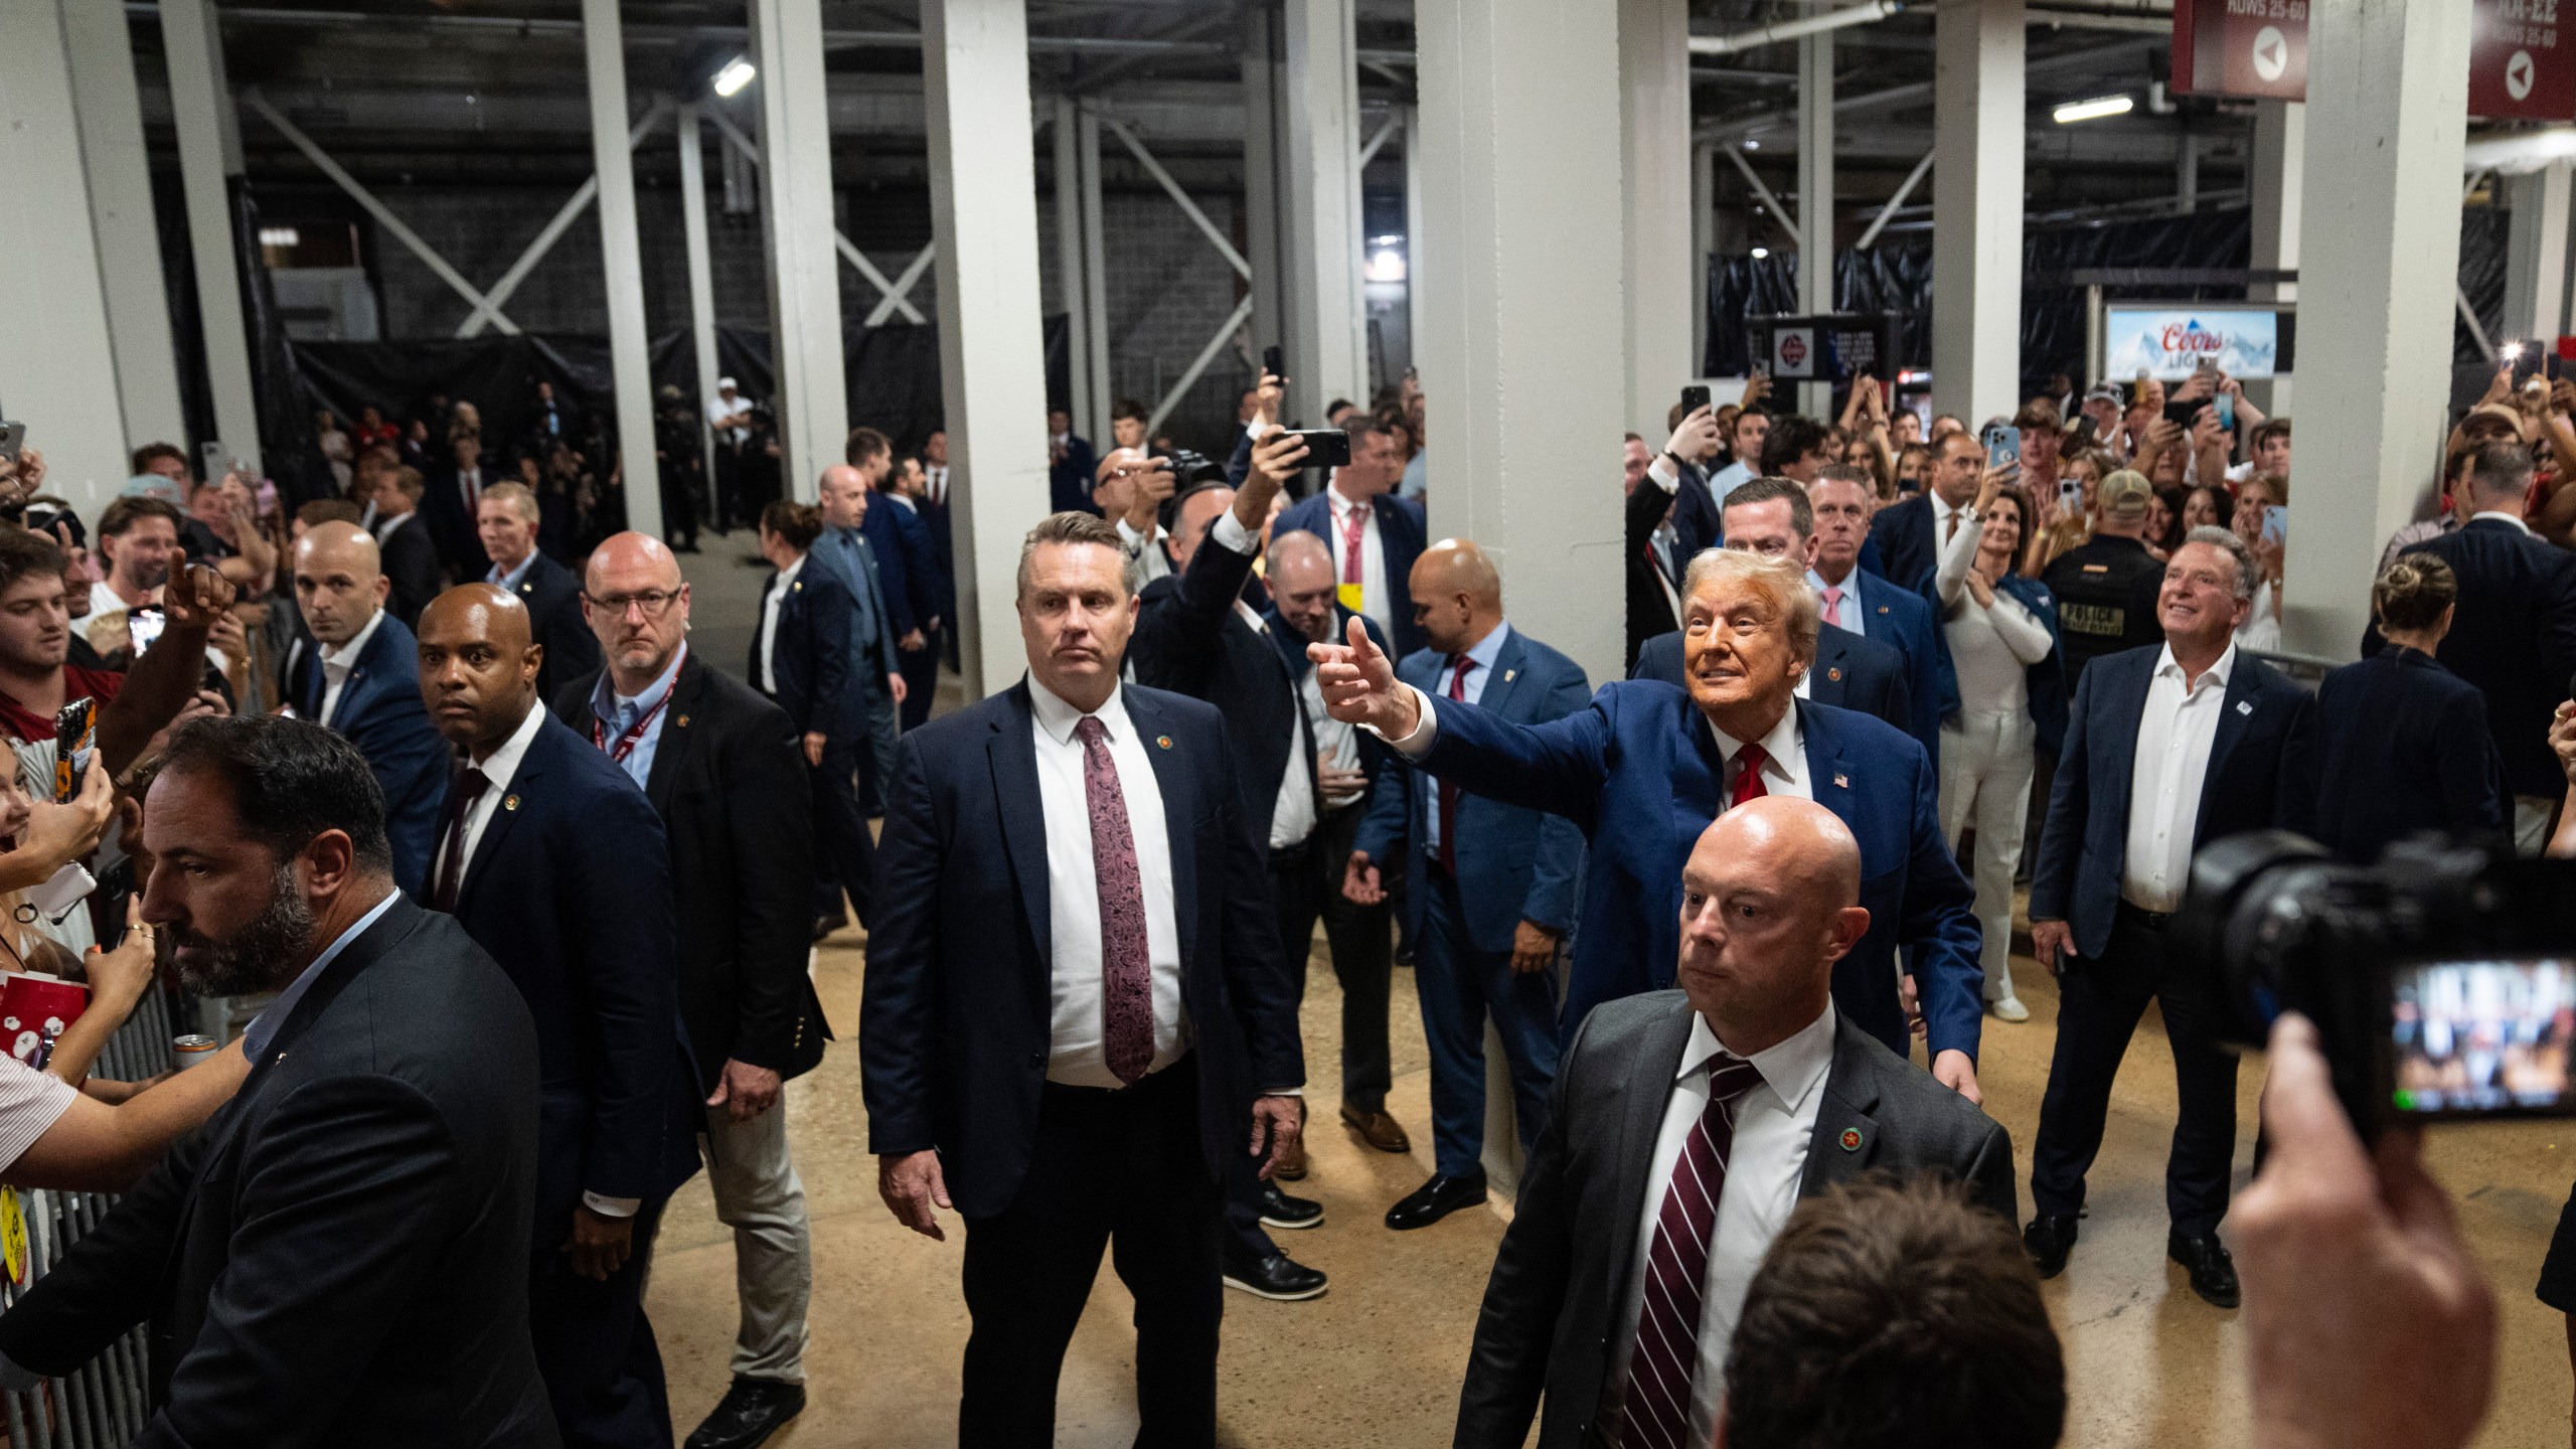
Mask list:
[[[1682,949],[1682,861],[1718,817],[1726,761],[1708,719],[1667,683],[1605,683],[1592,709],[1551,724],[1512,724],[1437,701],[1440,735],[1422,761],[1437,779],[1564,815],[1592,841],[1584,928],[1566,975],[1564,1031],[1605,1000],[1672,985]],[[1932,758],[1868,714],[1798,701],[1816,802],[1860,841],[1860,905],[1870,933],[1834,967],[1834,1003],[1906,1049],[1896,1003],[1896,946],[1922,993],[1932,1052],[1976,1055],[1984,1026],[1976,892],[1940,830]]]

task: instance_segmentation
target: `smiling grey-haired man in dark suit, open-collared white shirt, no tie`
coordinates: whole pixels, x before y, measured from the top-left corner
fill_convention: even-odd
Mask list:
[[[2022,1240],[2056,1276],[2076,1240],[2084,1173],[2102,1147],[2110,1085],[2148,1000],[2174,1044],[2174,1152],[2164,1168],[2166,1256],[2192,1292],[2236,1307],[2236,1263],[2218,1240],[2236,1155],[2236,1057],[2218,1047],[2192,972],[2166,967],[2164,931],[2192,851],[2295,822],[2313,766],[2308,691],[2236,652],[2254,557],[2226,529],[2192,529],[2164,570],[2164,645],[2084,670],[2048,794],[2030,879],[2030,944],[2058,977],[2058,1044],[2032,1140],[2032,1217]]]

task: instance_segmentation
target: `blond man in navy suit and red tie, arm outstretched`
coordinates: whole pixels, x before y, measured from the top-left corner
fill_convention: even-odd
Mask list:
[[[1592,709],[1515,724],[1399,683],[1378,650],[1352,639],[1316,645],[1324,699],[1432,776],[1564,815],[1592,841],[1564,1036],[1602,1000],[1672,985],[1682,861],[1710,820],[1765,794],[1824,804],[1860,841],[1870,913],[1870,933],[1834,967],[1834,1003],[1904,1052],[1896,946],[1906,946],[1932,1075],[1981,1101],[1976,892],[1940,830],[1932,758],[1878,719],[1795,696],[1816,655],[1816,590],[1801,565],[1710,549],[1690,562],[1682,601],[1687,691],[1615,681]]]

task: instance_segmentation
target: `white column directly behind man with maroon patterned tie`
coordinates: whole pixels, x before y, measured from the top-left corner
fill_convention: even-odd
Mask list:
[[[958,503],[958,663],[966,699],[1010,686],[1023,534],[1046,516],[1046,333],[1025,0],[925,0],[930,229],[940,400]]]

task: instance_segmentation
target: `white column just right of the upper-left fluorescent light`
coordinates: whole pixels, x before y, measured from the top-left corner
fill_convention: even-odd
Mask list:
[[[850,433],[822,0],[750,0],[750,21],[752,64],[760,67],[760,219],[770,248],[778,462],[786,495],[811,503],[822,469],[842,459]]]

